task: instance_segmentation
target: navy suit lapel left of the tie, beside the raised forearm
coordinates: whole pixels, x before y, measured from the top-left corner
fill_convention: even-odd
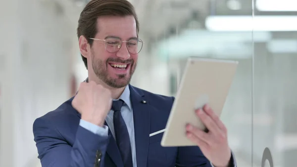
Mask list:
[[[107,123],[105,121],[104,123],[106,126]],[[114,162],[114,164],[117,166],[117,167],[124,167],[123,165],[123,161],[122,161],[122,158],[121,158],[121,154],[120,154],[120,151],[117,147],[117,144],[114,140],[114,137],[110,131],[110,129],[108,128],[108,135],[110,136],[109,137],[109,143],[108,143],[108,146],[107,146],[107,154],[109,155],[110,159]]]

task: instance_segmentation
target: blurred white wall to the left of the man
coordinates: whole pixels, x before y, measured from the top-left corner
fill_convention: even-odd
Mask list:
[[[41,0],[0,2],[0,167],[39,164],[33,121],[69,97],[75,27],[56,7]]]

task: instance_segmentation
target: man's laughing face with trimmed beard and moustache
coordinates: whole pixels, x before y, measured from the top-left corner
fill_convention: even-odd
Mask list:
[[[125,87],[130,83],[135,71],[138,54],[131,54],[130,49],[128,51],[127,45],[129,48],[131,43],[122,42],[121,46],[116,44],[121,41],[131,41],[133,38],[137,39],[135,19],[133,16],[100,17],[97,20],[97,29],[98,33],[94,38],[107,41],[94,40],[93,42],[90,63],[94,73],[110,87]]]

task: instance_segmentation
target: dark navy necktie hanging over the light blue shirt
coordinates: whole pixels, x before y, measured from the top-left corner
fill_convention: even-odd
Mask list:
[[[123,103],[122,100],[112,102],[114,134],[124,167],[133,167],[129,133],[121,114]]]

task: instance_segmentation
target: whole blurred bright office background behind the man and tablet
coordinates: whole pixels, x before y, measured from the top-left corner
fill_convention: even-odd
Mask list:
[[[41,167],[33,121],[87,77],[87,1],[0,1],[0,167]],[[130,1],[145,42],[133,85],[171,96],[188,56],[238,60],[222,115],[238,167],[260,167],[266,147],[274,167],[297,166],[296,0]]]

